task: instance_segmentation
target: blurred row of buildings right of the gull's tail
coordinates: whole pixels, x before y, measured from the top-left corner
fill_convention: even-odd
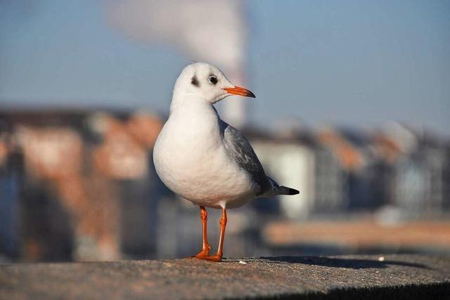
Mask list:
[[[248,134],[266,171],[300,187],[300,195],[281,197],[290,219],[385,206],[406,214],[448,210],[449,145],[401,124],[371,132],[299,131],[290,138]]]

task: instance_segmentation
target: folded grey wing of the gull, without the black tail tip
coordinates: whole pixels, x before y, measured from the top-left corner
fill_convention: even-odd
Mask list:
[[[238,129],[226,124],[222,120],[220,120],[220,127],[224,136],[226,152],[228,152],[230,157],[235,160],[241,169],[250,174],[252,181],[259,185],[259,191],[256,195],[262,195],[271,189],[271,184],[264,173],[262,164],[259,162],[247,138]]]

